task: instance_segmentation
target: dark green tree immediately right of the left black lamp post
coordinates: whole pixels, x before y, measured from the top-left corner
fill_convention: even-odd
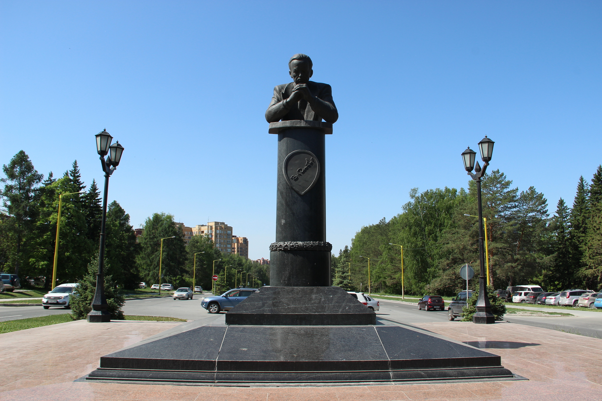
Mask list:
[[[122,288],[136,289],[140,278],[136,257],[140,252],[140,244],[136,242],[136,234],[129,224],[129,214],[117,203],[111,202],[107,210],[106,256],[108,266],[105,274],[113,276],[113,280]]]

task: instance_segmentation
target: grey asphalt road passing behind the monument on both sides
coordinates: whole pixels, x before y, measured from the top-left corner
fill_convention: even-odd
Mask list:
[[[174,301],[173,298],[134,299],[126,301],[123,311],[127,315],[179,317],[190,320],[213,320],[216,316],[208,313],[200,306],[201,299],[211,294],[194,295],[194,299]],[[377,316],[398,323],[430,323],[447,322],[447,311],[418,310],[417,305],[403,304],[395,301],[379,301],[380,310]],[[556,311],[556,310],[554,310]],[[567,308],[571,313],[573,308]],[[506,315],[506,320],[512,323],[538,326],[554,330],[563,330],[574,334],[589,335],[602,338],[602,313],[586,310],[573,311],[575,317],[538,317]],[[26,317],[48,316],[50,314],[70,313],[63,308],[43,309],[42,307],[0,307],[0,322]],[[220,313],[220,314],[223,314]]]

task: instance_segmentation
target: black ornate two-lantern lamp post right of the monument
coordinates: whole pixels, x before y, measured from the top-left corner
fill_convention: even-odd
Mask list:
[[[468,171],[468,175],[477,183],[477,204],[479,206],[479,263],[480,263],[480,275],[479,275],[479,299],[477,299],[477,311],[473,316],[473,323],[489,324],[495,323],[495,316],[491,313],[491,304],[489,303],[489,297],[487,296],[487,284],[485,283],[485,252],[483,249],[483,208],[481,205],[481,178],[485,176],[485,171],[491,161],[491,154],[493,153],[493,144],[495,142],[491,139],[483,138],[479,142],[479,150],[481,153],[481,159],[485,164],[483,168],[480,167],[479,162],[474,165],[474,156],[476,152],[470,147],[462,152],[462,160],[464,161],[464,168]],[[476,174],[473,174],[472,171]]]

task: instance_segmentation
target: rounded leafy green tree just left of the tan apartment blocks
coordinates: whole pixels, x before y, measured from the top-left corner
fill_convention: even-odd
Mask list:
[[[137,257],[140,276],[147,283],[170,283],[178,278],[183,278],[187,273],[185,269],[187,253],[184,246],[182,228],[175,224],[173,215],[167,213],[154,213],[144,222],[144,235],[138,238],[140,253]],[[174,237],[163,241],[163,266],[159,277],[159,262],[161,251],[161,238]],[[175,283],[178,284],[178,283]]]

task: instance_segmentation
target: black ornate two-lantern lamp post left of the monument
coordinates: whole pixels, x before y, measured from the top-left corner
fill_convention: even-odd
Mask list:
[[[109,190],[109,177],[116,170],[121,160],[123,146],[119,141],[111,145],[113,136],[103,130],[96,134],[96,152],[101,155],[102,171],[105,172],[105,193],[102,197],[101,243],[98,251],[98,274],[96,274],[96,292],[92,300],[92,310],[88,313],[88,322],[110,322],[111,314],[108,313],[107,298],[105,298],[105,223],[107,222],[107,193]],[[105,160],[105,156],[110,153]]]

